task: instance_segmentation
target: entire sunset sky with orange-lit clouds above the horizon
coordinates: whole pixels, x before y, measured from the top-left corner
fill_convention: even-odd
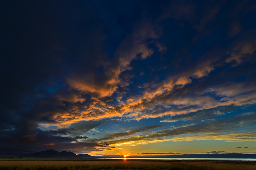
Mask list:
[[[1,1],[0,146],[256,153],[256,2]]]

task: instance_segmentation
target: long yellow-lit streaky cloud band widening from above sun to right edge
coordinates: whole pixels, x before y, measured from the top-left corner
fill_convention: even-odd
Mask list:
[[[212,120],[211,122],[207,123],[181,126],[179,128],[154,131],[148,134],[137,135],[134,137],[111,140],[107,143],[110,145],[147,144],[168,140],[198,140],[199,137],[201,140],[217,139],[226,141],[254,141],[256,139],[254,131],[244,132],[240,131],[238,128],[250,125],[254,126],[255,116],[256,114],[252,112],[244,115]],[[233,126],[234,123],[237,125]],[[216,126],[216,124],[218,124],[218,126]],[[111,135],[113,137],[108,137],[106,139],[101,138],[99,141],[109,140],[111,138],[113,139],[114,137],[124,137],[126,136],[126,133],[117,133]]]

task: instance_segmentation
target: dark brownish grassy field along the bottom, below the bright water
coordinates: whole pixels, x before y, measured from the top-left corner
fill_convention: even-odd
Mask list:
[[[256,170],[255,161],[0,159],[0,170]]]

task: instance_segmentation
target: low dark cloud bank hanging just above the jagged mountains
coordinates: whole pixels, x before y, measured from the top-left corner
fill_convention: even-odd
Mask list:
[[[67,150],[75,153],[103,151],[105,150],[104,147],[107,147],[106,145],[99,143],[77,141],[88,138],[86,136],[62,137],[59,135],[53,135],[51,132],[41,129],[35,129],[32,132],[23,135],[20,139],[16,138],[17,136],[14,136],[11,139],[5,137],[6,141],[2,143],[5,147],[12,147],[14,144],[19,144],[20,147],[24,148],[27,148],[29,143],[29,148],[33,148],[35,151],[44,151],[54,148],[57,151]]]

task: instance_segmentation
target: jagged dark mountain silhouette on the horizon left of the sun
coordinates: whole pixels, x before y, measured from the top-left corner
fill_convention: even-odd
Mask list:
[[[67,151],[54,151],[54,150],[47,150],[42,152],[35,152],[35,153],[29,153],[21,155],[20,157],[37,157],[37,158],[92,158],[93,156],[88,154],[79,154],[76,155],[73,152],[67,152]]]

